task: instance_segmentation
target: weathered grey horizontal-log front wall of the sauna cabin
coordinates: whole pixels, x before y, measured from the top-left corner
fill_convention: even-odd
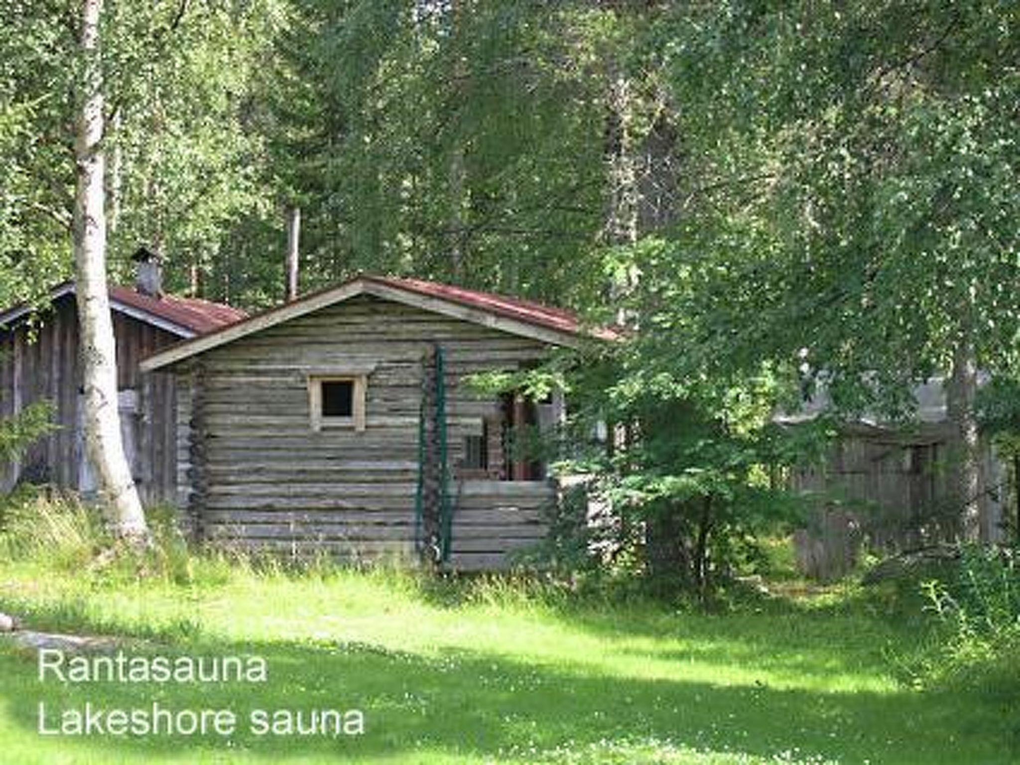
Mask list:
[[[432,343],[446,354],[454,466],[498,407],[461,378],[516,369],[545,345],[361,296],[203,354],[201,384],[180,399],[177,455],[183,504],[205,537],[294,553],[410,554],[421,360]],[[313,431],[308,375],[366,365],[365,429]],[[178,371],[182,391],[198,381],[194,367]],[[452,564],[462,569],[505,566],[543,534],[539,510],[555,499],[546,481],[465,478],[450,491]]]

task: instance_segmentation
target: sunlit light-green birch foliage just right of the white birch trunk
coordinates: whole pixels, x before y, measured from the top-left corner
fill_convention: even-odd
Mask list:
[[[146,243],[165,253],[171,289],[267,302],[267,286],[252,284],[226,248],[237,247],[239,219],[275,213],[275,191],[260,176],[260,67],[285,22],[284,3],[118,3],[111,11],[115,261],[126,263]]]

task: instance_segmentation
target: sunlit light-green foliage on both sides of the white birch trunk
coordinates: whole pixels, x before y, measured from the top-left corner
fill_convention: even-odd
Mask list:
[[[70,272],[70,6],[3,6],[0,32],[0,304]],[[116,2],[104,13],[107,214],[114,280],[141,244],[161,249],[169,286],[265,302],[221,249],[239,217],[271,215],[254,84],[284,3]],[[235,276],[232,283],[231,275]],[[238,289],[241,288],[241,289]]]

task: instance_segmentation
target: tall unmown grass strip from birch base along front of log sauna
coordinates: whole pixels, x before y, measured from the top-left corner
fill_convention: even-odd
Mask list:
[[[408,599],[436,606],[562,607],[570,593],[541,575],[434,575],[407,559],[382,558],[340,564],[327,554],[289,557],[228,547],[192,546],[169,507],[147,510],[151,544],[124,546],[107,531],[102,512],[61,495],[31,487],[0,502],[0,559],[30,564],[55,580],[72,573],[84,586],[146,581],[194,589],[279,578],[333,581],[356,574]]]

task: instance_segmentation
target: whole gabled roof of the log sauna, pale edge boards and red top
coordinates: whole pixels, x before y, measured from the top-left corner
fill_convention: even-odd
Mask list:
[[[556,346],[577,346],[585,336],[602,340],[617,337],[610,329],[583,327],[569,311],[530,301],[418,279],[358,276],[204,337],[178,343],[145,359],[142,369],[148,371],[176,363],[358,295],[371,295]]]

